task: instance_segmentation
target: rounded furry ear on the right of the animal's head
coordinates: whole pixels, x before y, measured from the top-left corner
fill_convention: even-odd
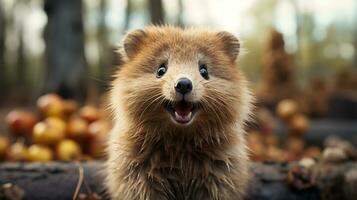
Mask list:
[[[221,31],[217,33],[221,42],[223,42],[224,51],[231,58],[232,61],[237,59],[240,49],[240,43],[238,38],[227,31]]]

